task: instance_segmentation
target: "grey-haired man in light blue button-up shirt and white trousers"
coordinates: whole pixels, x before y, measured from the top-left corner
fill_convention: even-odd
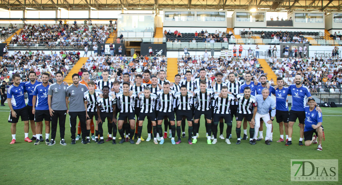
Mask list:
[[[272,137],[272,121],[274,116],[276,115],[276,102],[273,100],[272,97],[269,95],[269,89],[264,88],[261,91],[261,94],[255,96],[258,102],[258,109],[257,114],[255,114],[255,125],[254,125],[254,139],[257,139],[258,131],[260,128],[260,118],[264,120],[266,123],[266,137],[265,137],[265,144],[270,145],[269,139]],[[271,111],[271,119],[269,118],[269,108],[272,109]],[[255,141],[253,140],[253,141]]]

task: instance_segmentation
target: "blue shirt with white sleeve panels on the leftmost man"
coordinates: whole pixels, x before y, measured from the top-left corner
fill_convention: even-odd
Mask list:
[[[24,85],[26,82],[20,82],[18,87],[13,84],[7,90],[7,98],[11,98],[14,110],[26,107],[24,99]]]

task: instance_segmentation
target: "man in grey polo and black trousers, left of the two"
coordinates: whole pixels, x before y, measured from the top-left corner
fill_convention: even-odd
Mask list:
[[[60,144],[66,145],[64,134],[67,102],[61,100],[65,100],[68,85],[63,83],[64,76],[61,71],[56,72],[55,78],[56,83],[51,84],[48,90],[48,104],[51,116],[51,140],[55,143],[58,122],[60,125]],[[50,141],[49,146],[54,145],[54,143]]]

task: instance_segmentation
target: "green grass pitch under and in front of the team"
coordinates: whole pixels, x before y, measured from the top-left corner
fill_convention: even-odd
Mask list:
[[[112,145],[111,142],[82,145],[77,141],[76,145],[70,145],[68,119],[65,132],[67,146],[58,144],[59,129],[54,146],[25,143],[22,122],[17,124],[17,143],[10,145],[11,126],[7,122],[9,112],[6,111],[9,109],[1,107],[0,184],[307,184],[290,181],[291,159],[342,159],[342,108],[322,109],[325,141],[322,143],[323,151],[317,151],[316,144],[298,146],[298,123],[293,127],[292,145],[275,142],[279,138],[279,127],[275,121],[271,145],[265,145],[264,140],[257,145],[242,140],[240,145],[236,145],[236,121],[233,121],[231,145],[221,139],[215,145],[208,145],[203,119],[200,137],[193,145],[187,144],[186,138],[182,138],[179,145],[172,145],[170,138],[163,145],[155,145],[152,141],[143,141],[140,145]],[[43,129],[43,137],[44,133]],[[107,133],[106,126],[104,133]],[[265,134],[264,126],[264,137]],[[147,137],[146,124],[143,125],[142,136]],[[29,137],[32,137],[31,129]],[[342,160],[339,161],[340,175],[341,164]],[[341,180],[317,183],[341,184]]]

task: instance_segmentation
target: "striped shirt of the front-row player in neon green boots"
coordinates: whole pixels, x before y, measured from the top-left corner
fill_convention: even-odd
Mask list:
[[[200,89],[194,91],[196,98],[196,109],[205,111],[210,109],[210,100],[214,95],[214,91],[206,89],[205,93],[202,93]]]

